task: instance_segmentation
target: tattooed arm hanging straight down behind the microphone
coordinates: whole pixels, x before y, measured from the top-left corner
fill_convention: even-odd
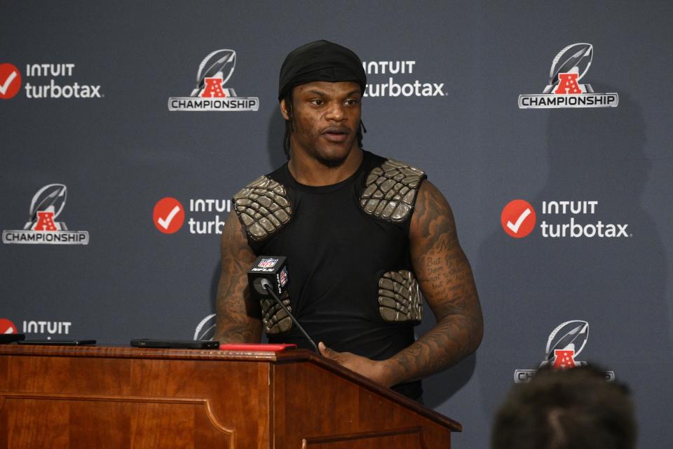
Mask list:
[[[219,247],[222,272],[217,286],[217,328],[213,340],[259,343],[261,311],[259,304],[250,300],[247,286],[247,270],[256,257],[233,210],[226,218]]]

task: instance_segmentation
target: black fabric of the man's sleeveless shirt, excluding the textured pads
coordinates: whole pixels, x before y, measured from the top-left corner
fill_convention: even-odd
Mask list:
[[[374,217],[362,206],[367,178],[384,162],[364,151],[351,177],[321,187],[299,184],[285,163],[267,177],[285,187],[292,205],[290,220],[261,241],[248,234],[256,255],[287,257],[292,313],[308,335],[336,351],[373,360],[390,358],[412,344],[418,324],[386,321],[380,311],[383,274],[413,272],[408,239],[413,204],[397,222]],[[309,347],[296,326],[268,335],[268,340]],[[420,381],[393,389],[412,398],[422,394]]]

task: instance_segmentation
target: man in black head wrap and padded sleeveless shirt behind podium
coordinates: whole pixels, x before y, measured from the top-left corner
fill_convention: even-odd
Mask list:
[[[278,99],[288,162],[234,196],[222,232],[215,340],[306,346],[271,301],[250,300],[257,255],[287,256],[284,298],[320,353],[421,398],[421,377],[454,365],[482,338],[482,312],[454,217],[421,170],[362,149],[366,75],[328,41],[292,51]],[[421,296],[422,292],[422,296]],[[414,341],[423,298],[436,326]]]

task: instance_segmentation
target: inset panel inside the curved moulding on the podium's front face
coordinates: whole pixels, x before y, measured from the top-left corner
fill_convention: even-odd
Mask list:
[[[235,431],[217,421],[205,399],[2,396],[7,448],[234,448]]]

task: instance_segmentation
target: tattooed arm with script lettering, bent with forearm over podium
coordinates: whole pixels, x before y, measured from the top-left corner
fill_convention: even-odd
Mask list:
[[[449,368],[482,341],[482,309],[470,263],[458,243],[449,203],[428,181],[419,189],[409,243],[416,278],[437,320],[435,327],[380,362],[320,344],[323,355],[387,387]]]

